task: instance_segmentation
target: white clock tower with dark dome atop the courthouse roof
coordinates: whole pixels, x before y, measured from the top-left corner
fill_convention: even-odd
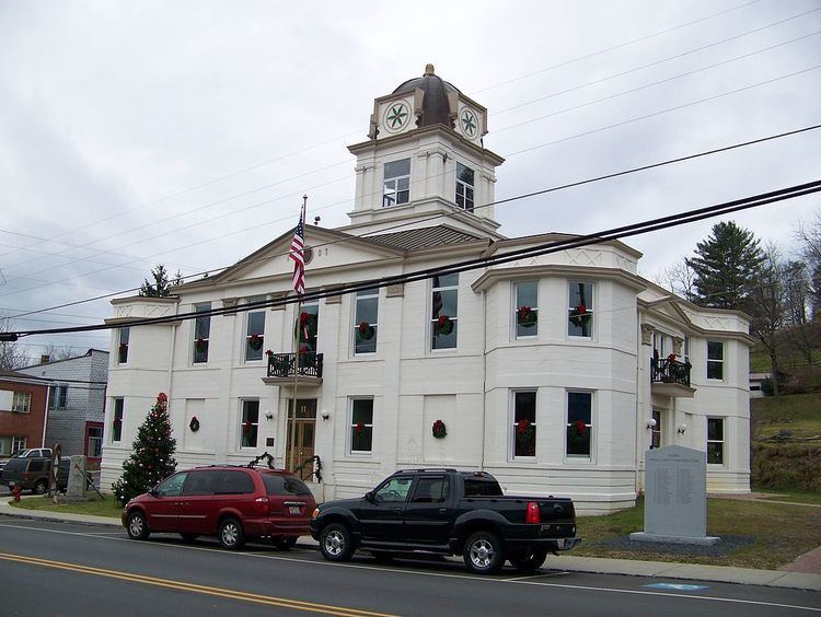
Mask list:
[[[495,170],[485,149],[487,109],[436,74],[402,83],[373,102],[368,141],[357,156],[354,234],[447,224],[500,238],[494,220]]]

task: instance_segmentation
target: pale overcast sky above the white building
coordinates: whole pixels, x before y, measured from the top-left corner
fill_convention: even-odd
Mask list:
[[[489,112],[497,198],[821,124],[819,0],[0,0],[0,312],[233,264],[348,223],[373,98],[425,65]],[[500,232],[590,233],[821,176],[821,130],[497,208]],[[733,220],[795,246],[821,198]],[[708,222],[629,238],[640,273]],[[99,323],[108,300],[20,317]],[[107,333],[28,337],[107,349]]]

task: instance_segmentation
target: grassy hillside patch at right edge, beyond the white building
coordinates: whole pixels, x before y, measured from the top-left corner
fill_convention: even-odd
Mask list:
[[[753,439],[764,439],[780,431],[793,436],[821,434],[821,397],[816,394],[793,394],[778,398],[766,396],[751,401]]]

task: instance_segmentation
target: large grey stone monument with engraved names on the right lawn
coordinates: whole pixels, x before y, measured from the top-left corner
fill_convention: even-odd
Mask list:
[[[632,540],[713,545],[707,536],[707,453],[681,445],[645,455],[645,531]]]

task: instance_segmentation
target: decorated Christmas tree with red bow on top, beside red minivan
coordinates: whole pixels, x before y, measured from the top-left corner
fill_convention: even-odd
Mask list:
[[[131,455],[123,462],[123,476],[112,485],[117,501],[123,504],[176,469],[176,440],[171,436],[169,398],[164,393],[157,395],[157,403],[137,431],[131,450]]]

